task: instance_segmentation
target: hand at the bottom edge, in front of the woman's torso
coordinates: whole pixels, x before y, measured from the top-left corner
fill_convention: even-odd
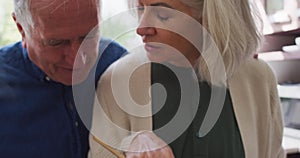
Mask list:
[[[126,158],[174,158],[171,148],[152,132],[142,132],[132,141]]]

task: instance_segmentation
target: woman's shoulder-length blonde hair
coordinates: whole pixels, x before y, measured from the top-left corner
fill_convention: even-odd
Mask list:
[[[254,3],[248,0],[181,0],[196,9],[202,25],[215,42],[225,65],[227,78],[258,50],[262,39],[262,22]],[[209,53],[209,52],[208,52]],[[210,53],[214,55],[214,53]],[[208,54],[209,55],[209,54]],[[212,59],[214,57],[211,57]],[[210,80],[200,58],[197,69],[202,80]]]

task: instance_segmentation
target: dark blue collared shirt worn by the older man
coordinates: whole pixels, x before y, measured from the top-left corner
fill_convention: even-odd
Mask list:
[[[1,48],[0,157],[87,157],[94,99],[90,89],[95,88],[105,69],[125,52],[117,43],[101,39],[99,62],[90,73],[95,78],[89,77],[76,86],[84,87],[79,95],[85,97],[84,102],[79,100],[75,106],[72,86],[49,80],[29,60],[20,42]],[[84,108],[85,124],[78,108]]]

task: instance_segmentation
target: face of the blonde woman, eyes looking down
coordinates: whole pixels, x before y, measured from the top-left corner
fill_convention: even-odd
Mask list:
[[[179,0],[139,0],[137,33],[142,37],[151,61],[185,67],[195,64],[199,51],[191,44],[190,37],[181,36],[182,32],[193,34],[196,31],[189,22],[191,19],[200,21],[194,12]]]

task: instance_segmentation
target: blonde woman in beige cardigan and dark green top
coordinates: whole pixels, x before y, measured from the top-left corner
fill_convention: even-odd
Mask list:
[[[100,80],[90,156],[111,156],[100,139],[130,158],[284,157],[276,80],[253,57],[261,34],[250,3],[132,4],[146,52],[121,59]],[[130,95],[116,92],[124,88]]]

